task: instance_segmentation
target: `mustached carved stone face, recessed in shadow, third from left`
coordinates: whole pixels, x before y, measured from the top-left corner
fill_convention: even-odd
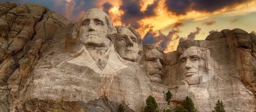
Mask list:
[[[163,72],[163,53],[158,49],[147,50],[145,54],[145,63],[147,69],[147,75],[149,76],[150,81],[161,82]]]

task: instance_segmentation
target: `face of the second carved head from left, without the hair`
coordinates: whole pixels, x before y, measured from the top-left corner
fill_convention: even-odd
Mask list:
[[[115,43],[116,52],[124,60],[135,62],[138,58],[139,47],[135,34],[123,27],[118,32],[118,37]]]

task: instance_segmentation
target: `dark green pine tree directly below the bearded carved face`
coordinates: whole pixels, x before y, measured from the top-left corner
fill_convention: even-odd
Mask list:
[[[188,96],[185,98],[185,100],[182,101],[182,106],[188,111],[188,112],[194,112],[197,111],[194,106],[194,102],[191,98]]]

